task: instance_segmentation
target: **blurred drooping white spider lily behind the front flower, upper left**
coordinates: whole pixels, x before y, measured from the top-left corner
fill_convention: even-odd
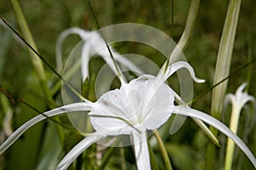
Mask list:
[[[90,56],[92,54],[98,54],[102,59],[106,61],[108,66],[111,68],[111,70],[117,75],[117,71],[115,69],[115,66],[113,65],[113,62],[111,61],[111,56],[108,52],[108,48],[105,45],[104,39],[101,37],[98,31],[84,31],[83,29],[73,27],[68,28],[65,31],[61,32],[61,35],[58,37],[58,40],[56,42],[56,48],[55,48],[55,56],[56,56],[56,68],[57,71],[62,71],[62,54],[61,54],[61,46],[62,42],[65,40],[65,38],[71,34],[78,35],[82,41],[84,41],[83,47],[81,49],[81,65],[83,65],[82,69],[82,81],[84,82],[86,77],[89,77],[89,67],[88,63],[90,60]],[[90,38],[86,38],[89,37]],[[98,47],[104,47],[99,50]],[[112,51],[112,54],[114,56],[114,59],[119,62],[121,65],[125,66],[125,68],[130,69],[131,71],[135,71],[135,74],[137,73],[143,73],[136,65],[133,65],[129,59],[126,59],[124,56],[117,53],[113,48],[109,47]],[[138,76],[138,75],[137,75]]]

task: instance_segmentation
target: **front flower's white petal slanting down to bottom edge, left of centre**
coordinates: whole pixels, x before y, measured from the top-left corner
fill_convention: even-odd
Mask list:
[[[69,165],[88,147],[90,147],[91,144],[96,143],[99,139],[102,139],[101,135],[98,135],[97,133],[92,133],[90,136],[85,137],[83,140],[79,142],[79,144],[76,144],[72,150],[70,150],[67,155],[62,159],[57,170],[64,170],[69,167]]]

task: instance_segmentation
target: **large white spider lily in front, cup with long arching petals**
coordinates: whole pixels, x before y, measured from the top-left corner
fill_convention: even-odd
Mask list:
[[[85,136],[79,144],[70,150],[57,169],[67,169],[77,156],[100,139],[124,134],[132,137],[137,168],[140,170],[150,169],[147,132],[162,126],[174,113],[194,117],[216,127],[230,139],[233,139],[250,161],[253,162],[253,166],[256,167],[255,157],[247,148],[247,145],[222,122],[188,106],[174,105],[173,90],[166,85],[165,80],[180,68],[187,68],[195,82],[202,82],[195,77],[193,68],[183,61],[170,65],[167,76],[163,74],[159,74],[157,77],[143,75],[129,83],[121,81],[119,89],[102,94],[95,103],[86,100],[80,103],[64,105],[32,118],[9,136],[9,139],[0,146],[0,153],[2,154],[4,150],[7,150],[22,133],[26,132],[26,129],[49,116],[56,116],[65,112],[88,111],[95,133]]]

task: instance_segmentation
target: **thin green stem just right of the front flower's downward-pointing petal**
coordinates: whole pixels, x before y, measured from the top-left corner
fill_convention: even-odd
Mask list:
[[[169,159],[168,153],[166,151],[165,144],[163,143],[163,141],[160,137],[160,133],[157,130],[154,131],[154,137],[156,138],[156,140],[159,144],[161,154],[162,154],[162,156],[164,158],[164,161],[165,161],[165,164],[166,164],[166,170],[172,170],[172,164],[171,164],[171,161]]]

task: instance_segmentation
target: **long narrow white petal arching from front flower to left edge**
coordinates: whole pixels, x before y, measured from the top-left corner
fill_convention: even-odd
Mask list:
[[[89,103],[75,103],[71,105],[64,105],[62,107],[56,108],[51,111],[46,111],[41,115],[35,116],[28,122],[24,123],[21,127],[19,127],[14,133],[12,133],[8,139],[6,139],[3,144],[0,145],[0,154],[2,154],[5,150],[9,148],[11,144],[15,142],[16,139],[20,137],[21,134],[25,133],[26,130],[32,127],[34,124],[43,121],[49,116],[56,116],[68,111],[90,111],[91,104]]]

